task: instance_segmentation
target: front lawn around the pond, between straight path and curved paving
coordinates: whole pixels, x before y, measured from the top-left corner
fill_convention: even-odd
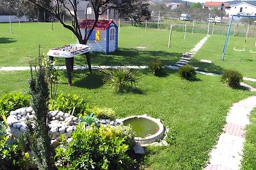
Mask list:
[[[79,94],[91,106],[113,108],[117,117],[147,114],[160,118],[164,125],[173,125],[177,134],[175,144],[148,147],[141,169],[202,169],[222,131],[229,107],[252,92],[230,89],[218,76],[198,75],[196,81],[186,81],[177,71],[166,71],[166,76],[157,77],[148,74],[147,69],[141,70],[138,89],[124,94],[105,85],[99,71],[74,71],[73,87],[67,87],[65,71],[59,71],[58,92]],[[16,72],[0,74],[2,82],[12,77],[8,83],[1,83],[4,92],[27,89],[29,71],[19,72],[24,78],[15,76]]]

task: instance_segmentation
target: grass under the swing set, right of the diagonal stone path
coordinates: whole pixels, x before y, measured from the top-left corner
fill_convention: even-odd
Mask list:
[[[250,39],[245,46],[246,51],[237,52],[233,50],[234,37],[228,40],[227,52],[224,61],[221,60],[222,49],[225,42],[225,36],[213,35],[200,50],[195,54],[191,62],[192,66],[199,67],[200,71],[211,73],[223,73],[224,69],[235,69],[240,71],[243,76],[256,78],[254,62],[256,61],[255,53],[250,53]],[[243,48],[244,38],[238,38],[236,48]],[[212,60],[211,64],[200,62],[201,59]]]

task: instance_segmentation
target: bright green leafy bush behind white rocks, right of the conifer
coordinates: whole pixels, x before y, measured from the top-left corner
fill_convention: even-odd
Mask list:
[[[61,110],[65,113],[74,111],[74,116],[83,114],[88,108],[88,104],[76,94],[58,94],[49,101],[49,110]]]

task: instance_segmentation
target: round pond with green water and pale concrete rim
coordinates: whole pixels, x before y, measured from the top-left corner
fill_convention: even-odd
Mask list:
[[[131,125],[132,130],[136,133],[135,140],[138,143],[156,141],[161,139],[164,134],[164,127],[160,120],[147,115],[122,118],[118,122],[123,122],[124,125]]]

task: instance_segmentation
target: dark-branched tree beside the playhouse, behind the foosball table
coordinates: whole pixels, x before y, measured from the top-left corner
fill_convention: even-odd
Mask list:
[[[78,0],[55,0],[51,1],[50,5],[45,3],[44,0],[23,1],[28,1],[29,3],[36,4],[40,8],[47,10],[49,13],[54,15],[54,17],[60,20],[60,23],[63,25],[63,27],[73,32],[79,43],[85,45],[90,35],[92,34],[92,31],[97,24],[100,15],[104,14],[104,12],[108,11],[109,9],[124,11],[124,13],[131,12],[131,9],[134,9],[134,6],[137,5],[139,0],[84,0],[88,2],[86,8],[91,7],[95,16],[92,28],[85,36],[83,36],[79,29],[79,20],[77,18],[77,6],[79,4]],[[62,18],[64,11],[67,11],[68,15],[72,17],[71,25],[64,22]]]

